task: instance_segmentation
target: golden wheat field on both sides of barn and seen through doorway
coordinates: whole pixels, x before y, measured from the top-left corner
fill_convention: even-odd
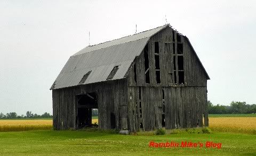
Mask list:
[[[92,119],[92,124],[98,119]],[[256,117],[210,117],[209,127],[215,132],[256,134]],[[0,120],[0,132],[51,129],[52,120]]]

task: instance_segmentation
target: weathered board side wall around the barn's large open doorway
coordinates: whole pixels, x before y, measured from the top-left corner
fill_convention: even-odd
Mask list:
[[[110,113],[115,115],[116,129],[127,128],[127,83],[114,80],[53,90],[54,129],[77,128],[76,95],[91,92],[98,93],[99,128],[111,128]]]

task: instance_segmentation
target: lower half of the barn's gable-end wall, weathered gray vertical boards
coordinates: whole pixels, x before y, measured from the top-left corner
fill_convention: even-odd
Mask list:
[[[165,103],[165,128],[186,128],[205,125],[207,120],[207,94],[205,86],[157,87],[142,86],[141,100],[139,87],[128,87],[128,127],[131,131],[140,130],[139,103],[142,108],[143,131],[162,126],[163,91]]]

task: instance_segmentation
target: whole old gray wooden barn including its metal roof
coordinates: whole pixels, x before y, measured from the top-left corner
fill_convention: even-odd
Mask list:
[[[100,129],[207,126],[209,79],[188,38],[169,24],[87,46],[51,86],[53,127],[91,125],[92,109]]]

